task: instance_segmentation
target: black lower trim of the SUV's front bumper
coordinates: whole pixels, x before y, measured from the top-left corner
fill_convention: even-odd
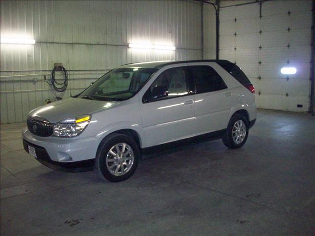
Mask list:
[[[64,172],[83,172],[83,171],[92,171],[94,165],[94,159],[84,160],[84,161],[74,161],[74,162],[59,162],[53,161],[45,148],[34,145],[25,139],[23,139],[23,146],[26,152],[29,153],[29,147],[32,146],[35,148],[37,161],[43,165],[53,169],[55,171],[64,171]]]

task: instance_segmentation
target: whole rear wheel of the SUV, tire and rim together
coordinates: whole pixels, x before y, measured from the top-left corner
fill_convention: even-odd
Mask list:
[[[240,129],[238,129],[240,127]],[[246,132],[244,135],[244,131]],[[233,137],[233,134],[234,137]],[[241,114],[235,114],[230,119],[226,133],[224,134],[222,141],[228,148],[241,148],[248,138],[249,134],[249,122],[247,118]],[[237,139],[237,136],[239,138]]]

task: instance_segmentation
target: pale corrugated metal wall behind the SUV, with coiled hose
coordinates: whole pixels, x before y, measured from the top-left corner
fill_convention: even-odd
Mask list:
[[[1,37],[26,35],[36,40],[35,45],[1,44],[1,123],[25,120],[30,110],[53,97],[44,76],[49,79],[55,62],[69,71],[68,89],[56,94],[66,98],[121,64],[202,57],[197,2],[2,0],[0,4]],[[137,42],[177,49],[127,48]]]

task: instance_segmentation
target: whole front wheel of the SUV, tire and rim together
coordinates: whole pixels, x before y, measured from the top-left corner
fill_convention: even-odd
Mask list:
[[[119,133],[110,134],[97,149],[95,171],[102,179],[111,182],[124,181],[135,172],[139,156],[139,147],[131,137]]]

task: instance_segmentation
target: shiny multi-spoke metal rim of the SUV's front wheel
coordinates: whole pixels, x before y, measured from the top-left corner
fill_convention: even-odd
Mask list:
[[[114,176],[125,175],[132,167],[134,154],[126,143],[115,144],[106,155],[107,170]]]

